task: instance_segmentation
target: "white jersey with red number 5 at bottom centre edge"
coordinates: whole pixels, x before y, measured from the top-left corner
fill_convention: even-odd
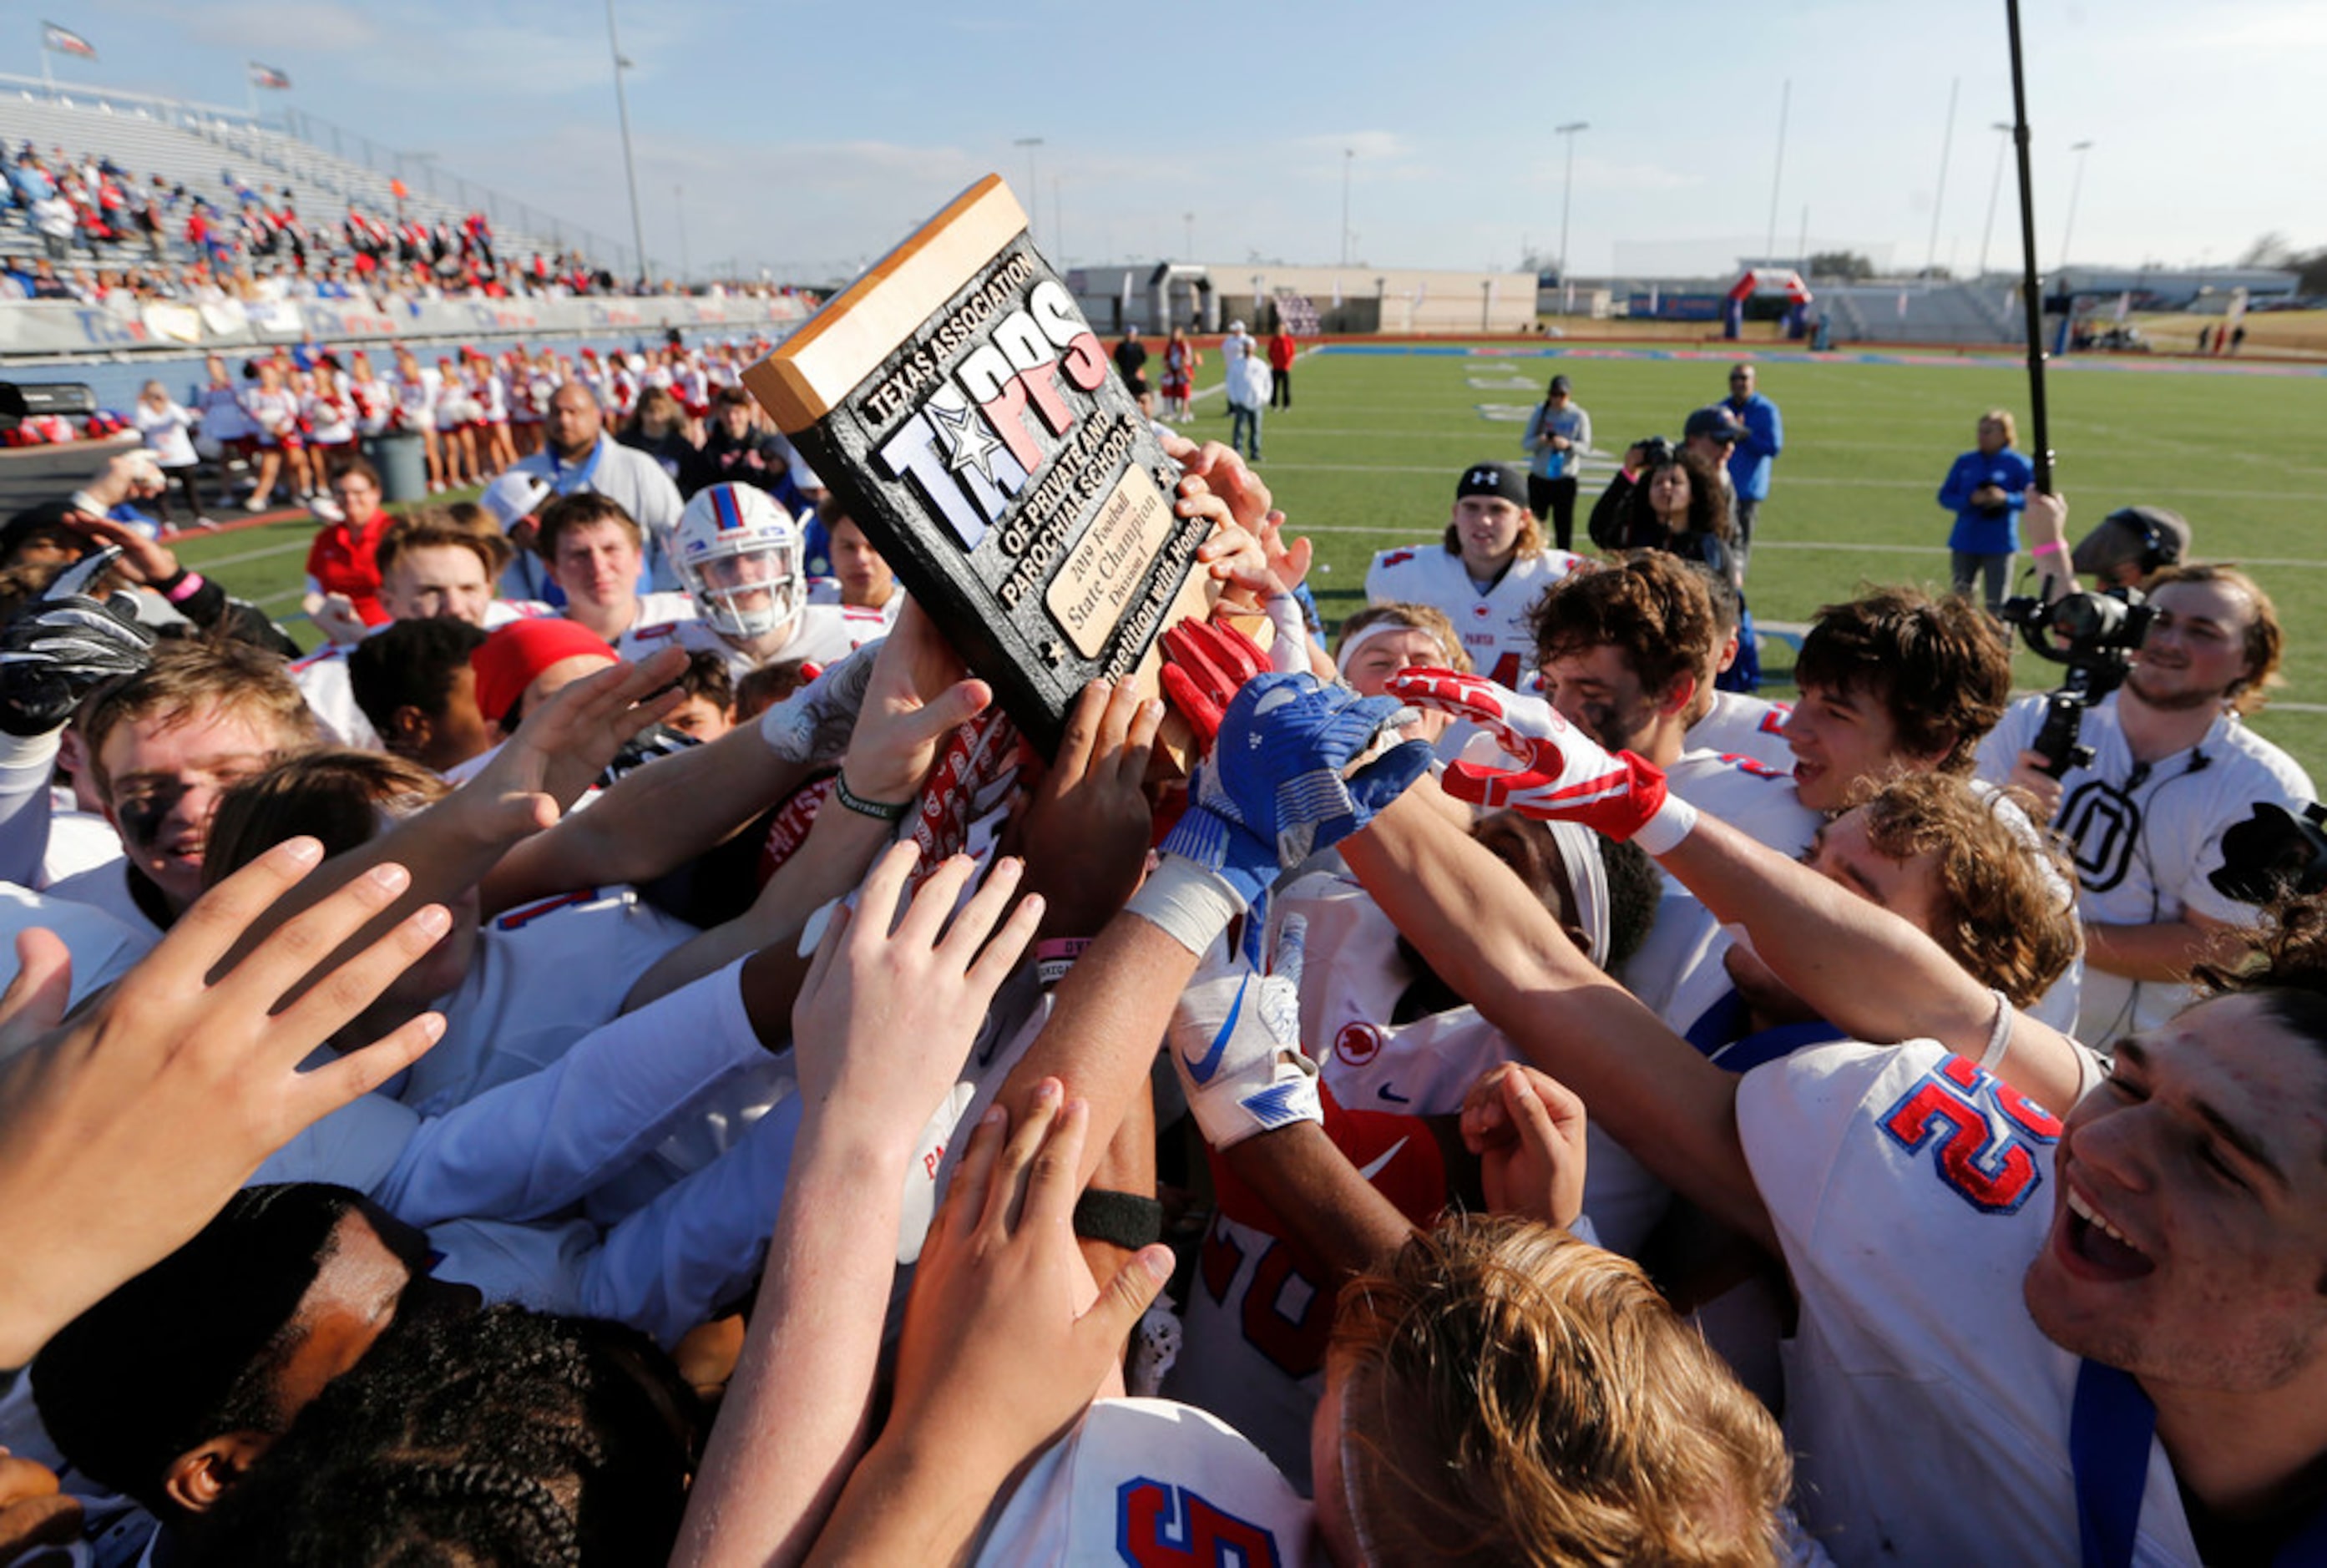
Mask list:
[[[1010,1494],[982,1568],[1310,1561],[1310,1505],[1245,1438],[1159,1398],[1096,1400]]]

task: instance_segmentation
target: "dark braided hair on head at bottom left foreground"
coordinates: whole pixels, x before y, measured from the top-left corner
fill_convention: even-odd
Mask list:
[[[191,1531],[195,1563],[659,1563],[700,1407],[619,1324],[500,1305],[398,1317]]]

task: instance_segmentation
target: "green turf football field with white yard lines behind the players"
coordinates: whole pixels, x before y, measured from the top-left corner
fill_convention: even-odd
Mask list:
[[[1326,349],[1298,363],[1296,407],[1268,412],[1261,472],[1317,542],[1312,589],[1338,619],[1361,603],[1373,551],[1436,537],[1464,465],[1520,456],[1554,368],[1592,412],[1594,444],[1620,451],[1678,435],[1687,409],[1724,391],[1724,365]],[[1219,354],[1208,354],[1198,393],[1210,395],[1189,426],[1198,440],[1226,440],[1217,384]],[[2290,640],[2287,684],[2257,728],[2327,779],[2327,377],[2064,370],[2048,389],[2071,537],[2113,507],[2155,503],[2192,521],[2201,556],[2248,563]],[[1748,582],[1764,621],[1803,621],[1862,582],[1945,586],[1950,519],[1934,493],[1948,463],[1987,407],[2015,409],[2027,437],[2027,377],[2008,361],[1766,363],[1762,391],[1782,407],[1787,442]],[[1587,477],[1580,512],[1596,491]],[[309,533],[305,521],[244,528],[182,554],[289,619]],[[1766,647],[1764,663],[1782,679],[1782,647]],[[2041,689],[2050,665],[2022,654],[2018,679]]]

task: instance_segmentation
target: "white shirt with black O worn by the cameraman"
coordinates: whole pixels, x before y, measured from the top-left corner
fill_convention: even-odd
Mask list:
[[[2257,800],[2290,812],[2318,798],[2292,756],[2222,714],[2187,751],[2136,763],[2118,724],[2122,696],[2085,714],[2080,740],[2090,768],[2071,768],[2059,786],[2052,828],[2069,840],[2087,926],[2148,926],[2185,912],[2232,926],[2255,910],[2218,893],[2206,879],[2222,868],[2222,835],[2255,812]],[[2043,698],[2013,703],[1980,742],[1980,777],[2001,784],[2013,761],[2043,728]],[[2190,986],[2085,968],[2078,1040],[2106,1049],[2118,1035],[2157,1028],[2190,1005]]]

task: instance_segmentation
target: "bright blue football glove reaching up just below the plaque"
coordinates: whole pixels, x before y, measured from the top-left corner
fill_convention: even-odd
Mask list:
[[[1187,856],[1257,905],[1280,872],[1364,828],[1422,777],[1431,763],[1424,740],[1343,777],[1406,712],[1396,698],[1361,698],[1315,675],[1254,675],[1189,779],[1187,814],[1164,838],[1164,854]]]

